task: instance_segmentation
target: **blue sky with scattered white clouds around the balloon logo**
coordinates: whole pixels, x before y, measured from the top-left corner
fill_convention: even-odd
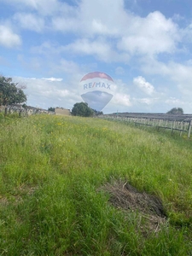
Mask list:
[[[192,1],[0,0],[0,74],[27,105],[72,109],[92,72],[115,84],[103,113],[192,113]]]

